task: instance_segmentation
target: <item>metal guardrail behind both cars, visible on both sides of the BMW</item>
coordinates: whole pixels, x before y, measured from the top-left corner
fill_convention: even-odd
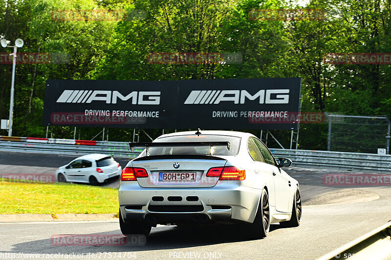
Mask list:
[[[136,157],[142,151],[142,149],[136,149],[132,153],[128,142],[94,141],[94,145],[88,145],[85,141],[75,142],[75,140],[65,139],[1,140],[0,150],[80,156],[102,153],[129,159]],[[293,161],[292,165],[298,167],[391,174],[391,155],[288,149],[270,150],[275,157],[289,158]]]

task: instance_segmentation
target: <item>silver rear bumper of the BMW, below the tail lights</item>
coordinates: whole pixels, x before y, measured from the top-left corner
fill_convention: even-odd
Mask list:
[[[190,221],[253,222],[261,190],[240,181],[219,181],[208,188],[143,188],[137,181],[121,181],[119,205],[124,222],[152,223]],[[154,201],[158,197],[162,201]],[[181,198],[170,201],[169,197]],[[188,201],[188,197],[197,201]]]

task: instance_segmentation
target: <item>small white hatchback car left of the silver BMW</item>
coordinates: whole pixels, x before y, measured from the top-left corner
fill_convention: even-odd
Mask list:
[[[72,160],[56,171],[59,182],[73,181],[99,184],[119,176],[122,167],[111,156],[89,154]]]

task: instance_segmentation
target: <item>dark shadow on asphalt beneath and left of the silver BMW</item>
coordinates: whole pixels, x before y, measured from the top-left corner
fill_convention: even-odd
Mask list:
[[[270,232],[280,229],[280,225],[272,224]],[[119,230],[112,232],[92,233],[88,235],[117,235]],[[84,234],[86,235],[86,234]],[[57,246],[50,239],[36,240],[15,244],[7,253],[36,253],[36,254],[87,254],[100,252],[140,252],[148,250],[166,250],[192,248],[195,246],[215,245],[240,241],[251,241],[245,230],[236,225],[204,226],[204,227],[158,227],[152,228],[143,246]]]

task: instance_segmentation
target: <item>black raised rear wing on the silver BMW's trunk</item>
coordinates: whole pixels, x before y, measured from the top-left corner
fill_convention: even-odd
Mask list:
[[[206,142],[129,142],[130,151],[134,153],[134,148],[147,149],[147,156],[149,155],[148,149],[150,147],[200,147],[210,146],[211,150],[213,146],[226,146],[228,151],[231,150],[231,143],[229,141],[206,141]],[[210,153],[212,155],[212,153]]]

